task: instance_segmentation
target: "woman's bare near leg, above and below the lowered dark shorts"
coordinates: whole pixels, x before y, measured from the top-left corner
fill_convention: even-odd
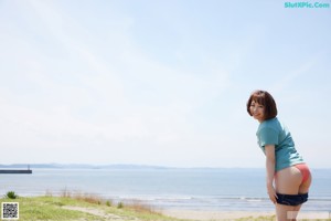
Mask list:
[[[276,175],[276,191],[282,194],[298,194],[302,181],[302,175],[296,167],[279,170]],[[298,206],[297,206],[298,207]],[[276,204],[278,221],[295,220],[300,208],[293,206]]]

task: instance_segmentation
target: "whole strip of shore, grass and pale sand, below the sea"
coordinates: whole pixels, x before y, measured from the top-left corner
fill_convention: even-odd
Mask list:
[[[8,199],[2,198],[0,202]],[[153,209],[139,202],[122,203],[105,201],[97,196],[71,192],[62,197],[44,196],[36,198],[17,198],[20,203],[22,218],[26,220],[67,220],[67,215],[74,215],[71,220],[118,220],[118,221],[274,221],[275,211],[222,211],[222,210],[194,210],[194,209]],[[26,209],[28,208],[28,209]],[[39,212],[31,212],[39,211]],[[50,213],[50,211],[53,211]],[[40,217],[41,215],[41,217]],[[61,219],[58,218],[61,217]],[[148,218],[148,219],[146,219]],[[324,220],[331,221],[331,211],[301,211],[298,220]]]

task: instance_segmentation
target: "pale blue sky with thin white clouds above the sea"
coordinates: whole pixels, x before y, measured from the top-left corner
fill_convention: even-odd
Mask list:
[[[266,90],[331,168],[320,3],[0,0],[0,164],[264,167],[246,102]]]

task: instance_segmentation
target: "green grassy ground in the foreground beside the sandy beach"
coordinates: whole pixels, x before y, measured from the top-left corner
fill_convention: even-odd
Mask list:
[[[61,197],[2,198],[0,202],[19,202],[20,221],[180,221],[180,219],[158,213],[152,208],[139,202],[113,203],[87,194],[65,193]],[[275,217],[237,219],[237,221],[271,220],[274,221]]]

